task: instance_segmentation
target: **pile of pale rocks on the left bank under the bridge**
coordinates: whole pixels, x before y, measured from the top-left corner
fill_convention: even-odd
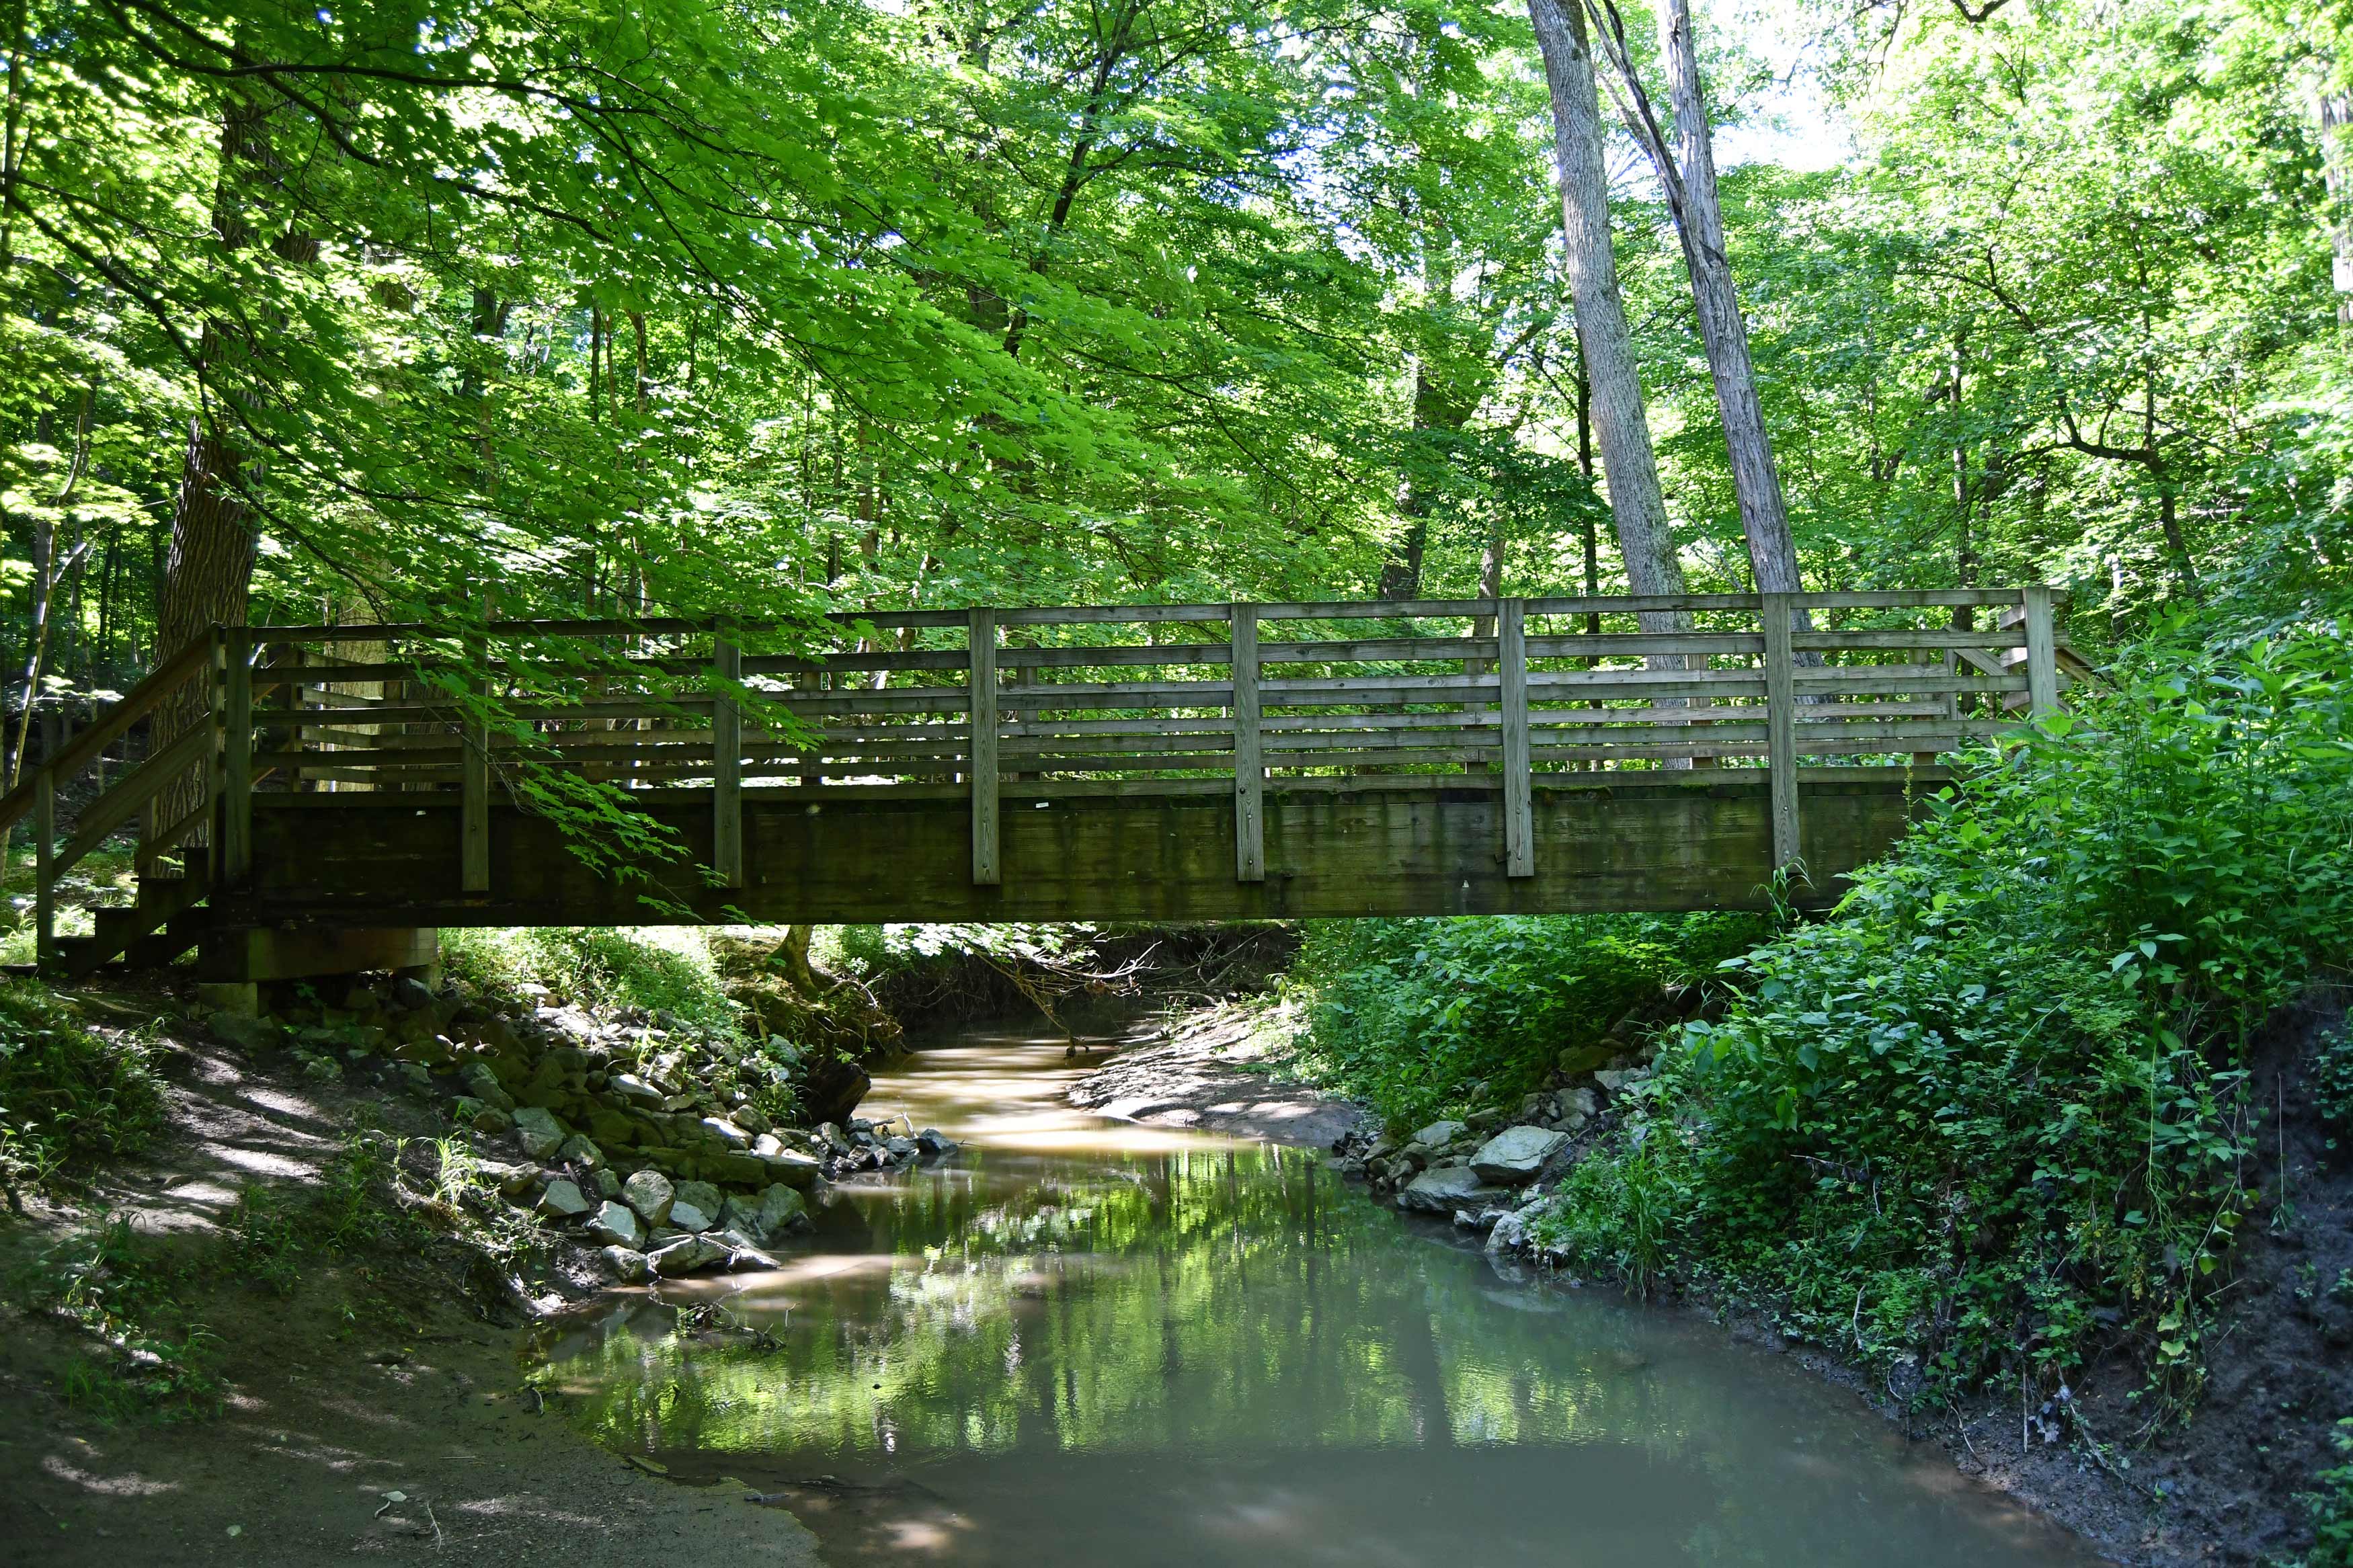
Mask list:
[[[809,1201],[831,1178],[955,1152],[934,1128],[899,1138],[859,1119],[779,1126],[760,1100],[788,1103],[791,1048],[661,1011],[600,1018],[541,997],[393,978],[348,983],[336,1006],[313,987],[287,987],[273,1013],[216,1013],[212,1032],[442,1098],[487,1154],[520,1157],[485,1157],[482,1175],[544,1225],[600,1248],[624,1284],[776,1267],[765,1248],[809,1229]]]

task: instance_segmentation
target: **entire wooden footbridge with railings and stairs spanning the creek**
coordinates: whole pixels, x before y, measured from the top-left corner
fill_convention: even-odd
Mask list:
[[[1835,896],[1939,755],[2054,705],[2052,616],[2024,588],[240,625],[0,825],[33,818],[61,973],[202,943],[266,978],[289,936],[348,969],[468,924],[1753,907],[1788,865]],[[136,903],[64,933],[111,842]]]

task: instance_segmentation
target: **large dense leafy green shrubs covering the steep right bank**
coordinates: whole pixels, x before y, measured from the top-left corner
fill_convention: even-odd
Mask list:
[[[1725,964],[1539,1239],[1673,1255],[1932,1396],[2101,1333],[2195,1394],[2259,1201],[2242,1044],[2353,947],[2348,693],[2341,639],[2280,637],[1984,757],[1833,919]]]

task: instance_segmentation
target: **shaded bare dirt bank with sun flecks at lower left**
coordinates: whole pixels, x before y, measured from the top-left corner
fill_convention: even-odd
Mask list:
[[[172,997],[99,999],[151,1018]],[[586,1281],[562,1272],[485,1291],[454,1244],[353,1253],[289,1293],[200,1269],[245,1187],[315,1182],[353,1110],[395,1133],[445,1131],[421,1103],[346,1093],[292,1058],[193,1027],[158,1044],[169,1133],[99,1171],[71,1208],[7,1222],[12,1272],[99,1215],[129,1215],[188,1265],[186,1300],[216,1345],[212,1420],[108,1422],[68,1396],[89,1338],[0,1314],[0,1561],[341,1563],[353,1554],[478,1563],[816,1563],[814,1540],[744,1488],[682,1488],[579,1439],[522,1387],[513,1324]],[[487,1302],[487,1305],[480,1305]],[[400,1493],[395,1502],[391,1493]]]

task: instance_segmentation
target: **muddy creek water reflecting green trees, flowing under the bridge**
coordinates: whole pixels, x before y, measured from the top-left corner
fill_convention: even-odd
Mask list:
[[[1788,1359],[1513,1281],[1313,1150],[1075,1112],[967,1034],[864,1114],[962,1140],[835,1190],[774,1274],[619,1293],[536,1378],[826,1561],[2089,1563]]]

